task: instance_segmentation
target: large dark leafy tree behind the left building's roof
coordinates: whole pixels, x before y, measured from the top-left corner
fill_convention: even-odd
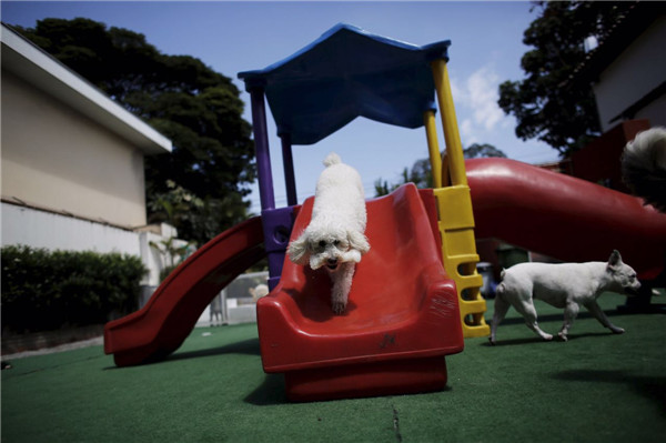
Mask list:
[[[93,20],[44,19],[17,29],[172,140],[172,153],[145,159],[150,222],[172,222],[180,238],[201,244],[248,217],[252,128],[230,78]],[[174,201],[168,215],[164,202]]]

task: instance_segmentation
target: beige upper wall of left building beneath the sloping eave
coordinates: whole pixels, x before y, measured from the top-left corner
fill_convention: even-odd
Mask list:
[[[143,152],[2,70],[2,197],[145,224]]]

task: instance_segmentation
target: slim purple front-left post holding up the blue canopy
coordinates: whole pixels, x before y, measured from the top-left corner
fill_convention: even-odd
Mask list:
[[[273,174],[269,152],[269,130],[266,129],[266,108],[263,88],[250,89],[252,102],[252,127],[254,129],[254,149],[256,152],[256,172],[259,174],[259,195],[261,209],[275,209]]]

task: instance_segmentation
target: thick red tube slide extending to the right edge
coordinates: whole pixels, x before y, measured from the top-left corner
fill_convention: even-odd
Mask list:
[[[616,249],[638,276],[666,266],[666,215],[643,200],[506,159],[466,162],[477,239],[496,238],[563,261]]]

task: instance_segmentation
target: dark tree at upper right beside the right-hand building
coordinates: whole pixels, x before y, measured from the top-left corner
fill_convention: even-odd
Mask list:
[[[599,135],[598,113],[588,87],[572,87],[569,77],[585,60],[584,41],[602,41],[633,2],[538,1],[539,17],[524,32],[526,78],[500,84],[498,104],[517,120],[515,133],[538,139],[562,155]]]

